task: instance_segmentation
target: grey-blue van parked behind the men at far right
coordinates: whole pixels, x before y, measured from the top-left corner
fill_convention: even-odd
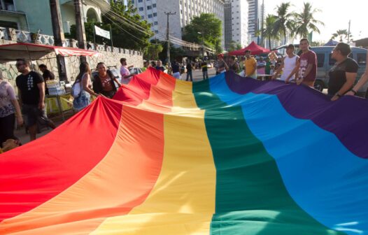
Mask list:
[[[314,87],[317,90],[322,91],[325,88],[328,88],[328,80],[330,80],[328,72],[334,66],[336,61],[331,58],[333,46],[320,46],[320,47],[312,47],[311,50],[316,52],[317,55],[317,78],[314,83]],[[358,82],[359,78],[365,72],[365,66],[367,66],[367,49],[364,48],[356,48],[351,47],[351,54],[349,55],[352,59],[355,59],[359,64],[358,76],[355,80],[355,83]],[[365,92],[367,92],[368,84],[363,86],[359,91],[358,95],[363,97]]]

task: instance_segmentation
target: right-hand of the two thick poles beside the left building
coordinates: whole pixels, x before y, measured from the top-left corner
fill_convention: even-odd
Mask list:
[[[82,0],[74,0],[74,11],[76,12],[76,34],[78,48],[86,49],[85,22],[83,16]],[[80,62],[86,62],[85,56],[80,56]]]

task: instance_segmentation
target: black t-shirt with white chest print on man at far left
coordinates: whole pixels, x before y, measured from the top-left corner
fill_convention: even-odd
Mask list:
[[[15,83],[20,90],[20,96],[23,104],[38,105],[40,101],[40,90],[37,84],[43,83],[43,77],[41,74],[34,71],[29,72],[27,75],[17,76]]]

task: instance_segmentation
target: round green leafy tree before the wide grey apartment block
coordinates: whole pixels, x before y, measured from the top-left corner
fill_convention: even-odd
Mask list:
[[[222,52],[222,22],[214,14],[202,13],[195,16],[184,27],[183,40],[201,44],[202,36],[204,45]]]

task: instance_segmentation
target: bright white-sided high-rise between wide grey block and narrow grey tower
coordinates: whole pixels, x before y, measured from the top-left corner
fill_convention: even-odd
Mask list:
[[[241,46],[248,45],[248,2],[244,0],[225,1],[225,48],[234,41]]]

